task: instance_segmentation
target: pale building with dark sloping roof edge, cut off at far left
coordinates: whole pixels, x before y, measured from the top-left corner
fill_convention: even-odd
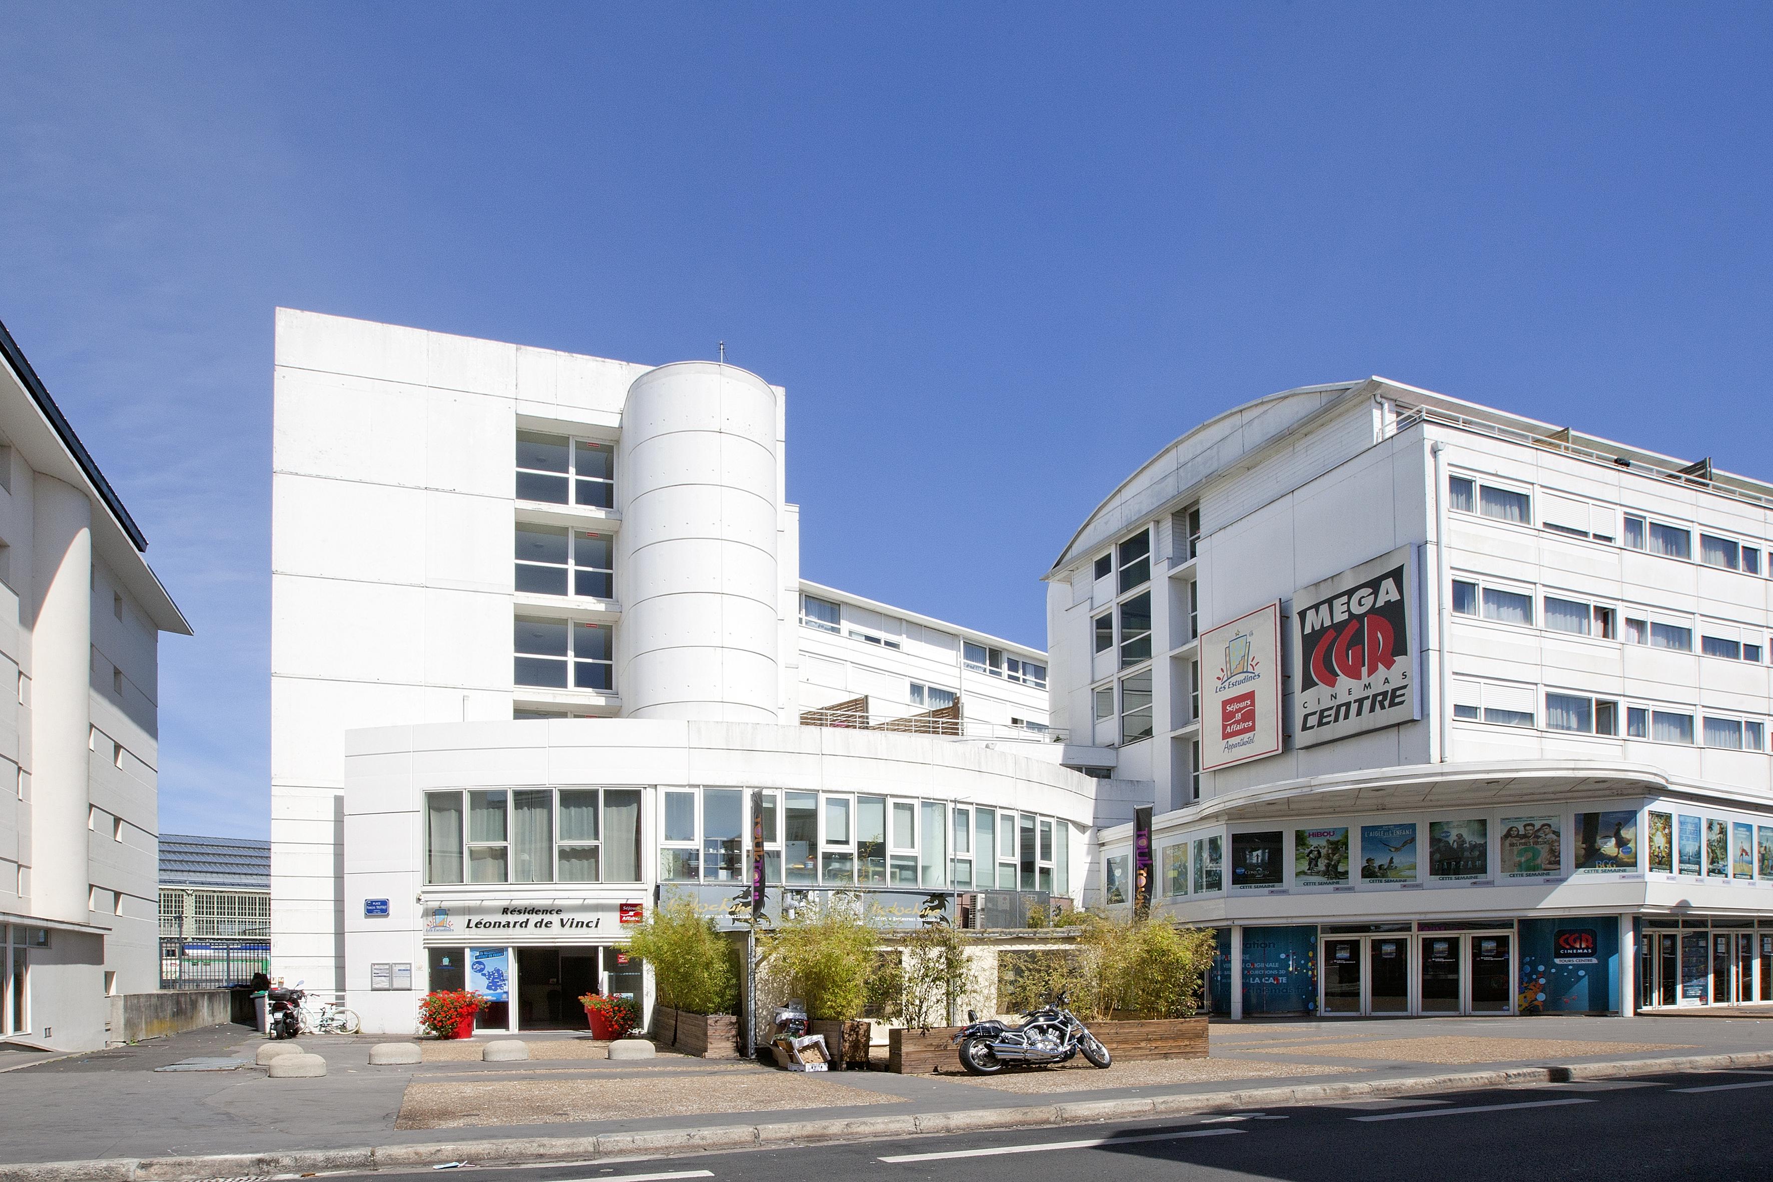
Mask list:
[[[160,987],[158,649],[191,629],[145,549],[0,326],[0,1038],[98,1049]]]

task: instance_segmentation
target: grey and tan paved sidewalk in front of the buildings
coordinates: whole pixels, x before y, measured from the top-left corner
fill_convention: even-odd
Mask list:
[[[326,1058],[324,1079],[269,1079],[248,1065],[161,1070],[184,1060],[250,1061],[262,1044],[245,1028],[218,1026],[5,1072],[0,1163],[11,1164],[0,1166],[0,1182],[566,1161],[1773,1065],[1773,1021],[1753,1019],[1220,1024],[1211,1030],[1209,1060],[1067,1067],[993,1081],[807,1076],[672,1054],[608,1061],[587,1058],[598,1047],[583,1038],[528,1040],[534,1058],[519,1063],[369,1067],[378,1038],[310,1037],[301,1042]],[[156,1161],[206,1155],[232,1157]],[[30,1170],[28,1163],[83,1164]]]

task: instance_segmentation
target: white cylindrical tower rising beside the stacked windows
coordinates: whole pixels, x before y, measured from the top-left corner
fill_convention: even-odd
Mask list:
[[[778,721],[777,395],[679,362],[628,388],[615,691],[628,718]]]

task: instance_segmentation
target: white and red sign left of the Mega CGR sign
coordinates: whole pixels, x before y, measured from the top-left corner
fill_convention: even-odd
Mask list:
[[[1200,634],[1200,769],[1280,753],[1280,604]]]

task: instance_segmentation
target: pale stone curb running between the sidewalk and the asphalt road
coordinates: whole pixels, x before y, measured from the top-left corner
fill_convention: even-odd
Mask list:
[[[475,1164],[546,1164],[598,1159],[674,1157],[741,1148],[869,1141],[876,1138],[980,1132],[989,1129],[1035,1129],[1142,1116],[1183,1116],[1225,1108],[1278,1108],[1324,1100],[1383,1099],[1429,1092],[1468,1092],[1534,1083],[1617,1079],[1681,1070],[1720,1070],[1773,1065],[1773,1051],[1745,1054],[1693,1054],[1661,1060],[1615,1060],[1567,1067],[1512,1067],[1452,1076],[1415,1076],[1303,1085],[1296,1088],[1250,1088],[1197,1095],[1158,1095],[1128,1100],[1076,1100],[1030,1108],[979,1108],[952,1113],[908,1113],[902,1116],[856,1116],[837,1120],[791,1120],[773,1125],[707,1125],[702,1129],[658,1129],[651,1132],[606,1132],[582,1138],[495,1138],[480,1141],[378,1145],[337,1150],[289,1150],[282,1154],[215,1154],[206,1157],[105,1157],[94,1161],[50,1161],[0,1164],[0,1182],[207,1182],[216,1178],[266,1178],[275,1175],[411,1170],[447,1161]],[[612,1180],[619,1182],[619,1178]]]

